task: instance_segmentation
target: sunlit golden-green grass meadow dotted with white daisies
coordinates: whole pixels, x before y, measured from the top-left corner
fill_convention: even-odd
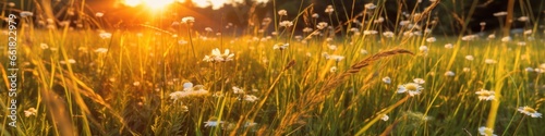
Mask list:
[[[545,134],[543,29],[300,33],[272,20],[277,35],[216,35],[191,21],[178,33],[21,25],[19,126],[2,135]]]

